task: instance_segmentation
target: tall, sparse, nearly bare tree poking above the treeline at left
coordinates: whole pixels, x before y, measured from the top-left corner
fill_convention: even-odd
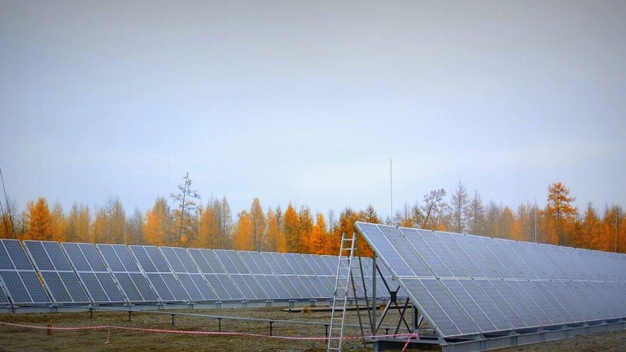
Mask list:
[[[192,179],[187,172],[183,177],[183,183],[178,185],[177,194],[170,194],[170,198],[178,204],[174,212],[174,218],[178,223],[178,246],[183,246],[187,241],[193,241],[193,225],[197,209],[196,200],[200,200],[197,190],[192,190]],[[191,238],[191,239],[190,239]]]

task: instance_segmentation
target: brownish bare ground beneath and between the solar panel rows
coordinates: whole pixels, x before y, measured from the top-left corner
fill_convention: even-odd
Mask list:
[[[180,311],[182,313],[210,314],[222,316],[242,316],[249,318],[270,318],[298,321],[329,321],[330,312],[289,313],[280,308],[207,309]],[[364,317],[366,315],[364,314]],[[394,325],[398,313],[390,312],[386,324]],[[190,331],[217,331],[217,319],[177,316],[172,326],[170,315],[135,312],[131,321],[124,312],[95,312],[93,319],[85,313],[33,313],[0,314],[0,321],[20,324],[48,326],[99,326],[113,325],[131,328],[180,329]],[[351,312],[349,322],[356,323],[356,313]],[[247,333],[269,334],[269,323],[222,320],[222,331],[245,331]],[[275,336],[323,337],[324,326],[309,326],[274,323]],[[401,331],[404,332],[404,331]],[[384,333],[384,329],[382,331]],[[357,336],[357,328],[349,328],[349,336]],[[369,351],[357,341],[347,341],[346,350]],[[0,325],[0,352],[13,351],[326,351],[326,341],[294,341],[272,338],[252,338],[242,336],[202,336],[181,334],[147,333],[111,329],[92,331],[51,331],[34,330]],[[438,348],[431,348],[436,351]],[[578,336],[542,344],[518,346],[502,349],[513,351],[626,351],[626,331],[613,331],[590,336]]]

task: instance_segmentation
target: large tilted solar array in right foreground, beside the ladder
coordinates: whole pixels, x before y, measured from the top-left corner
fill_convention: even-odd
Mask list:
[[[357,222],[442,337],[626,317],[626,256]]]

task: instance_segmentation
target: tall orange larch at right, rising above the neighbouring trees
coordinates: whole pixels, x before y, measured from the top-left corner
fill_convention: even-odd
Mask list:
[[[552,241],[561,246],[567,244],[565,232],[568,230],[568,222],[575,219],[578,214],[572,202],[576,197],[570,197],[570,190],[561,182],[548,186],[548,199],[546,215],[552,220]]]

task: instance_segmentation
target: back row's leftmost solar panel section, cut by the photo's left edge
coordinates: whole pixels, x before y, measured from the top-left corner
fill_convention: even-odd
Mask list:
[[[46,293],[24,247],[15,239],[0,240],[0,304],[49,304]]]

